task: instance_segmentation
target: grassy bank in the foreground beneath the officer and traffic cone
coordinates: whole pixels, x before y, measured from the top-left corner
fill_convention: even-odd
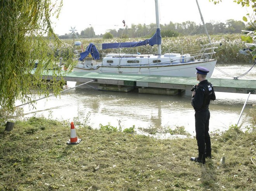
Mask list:
[[[156,140],[78,128],[44,118],[0,127],[0,190],[171,191],[256,189],[256,132],[231,127],[211,136],[213,160],[190,162],[195,138]],[[225,164],[220,164],[225,156]]]

